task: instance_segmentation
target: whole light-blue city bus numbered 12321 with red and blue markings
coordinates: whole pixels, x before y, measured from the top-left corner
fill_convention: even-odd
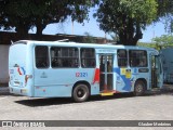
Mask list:
[[[61,41],[16,41],[9,51],[10,92],[31,98],[112,95],[161,88],[159,52],[151,48]]]

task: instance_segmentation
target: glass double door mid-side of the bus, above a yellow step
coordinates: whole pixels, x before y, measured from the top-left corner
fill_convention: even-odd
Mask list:
[[[114,54],[99,55],[99,90],[102,95],[112,95]]]

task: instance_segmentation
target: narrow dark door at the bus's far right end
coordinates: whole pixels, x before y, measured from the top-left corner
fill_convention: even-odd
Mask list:
[[[160,56],[154,55],[151,57],[151,88],[162,88],[163,86],[163,70]]]

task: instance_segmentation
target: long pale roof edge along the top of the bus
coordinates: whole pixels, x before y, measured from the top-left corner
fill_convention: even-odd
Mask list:
[[[36,40],[19,40],[13,44],[37,44],[37,46],[59,46],[59,47],[84,47],[84,48],[97,48],[97,49],[137,49],[137,50],[147,50],[154,51],[152,48],[138,47],[138,46],[121,46],[121,44],[98,44],[98,43],[78,43],[78,42],[62,42],[62,41],[36,41]],[[155,50],[156,51],[156,50]]]

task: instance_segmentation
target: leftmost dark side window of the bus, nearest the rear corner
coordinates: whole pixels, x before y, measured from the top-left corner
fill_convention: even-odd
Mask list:
[[[37,68],[48,68],[49,67],[49,51],[48,47],[37,46],[35,48],[35,58]]]

